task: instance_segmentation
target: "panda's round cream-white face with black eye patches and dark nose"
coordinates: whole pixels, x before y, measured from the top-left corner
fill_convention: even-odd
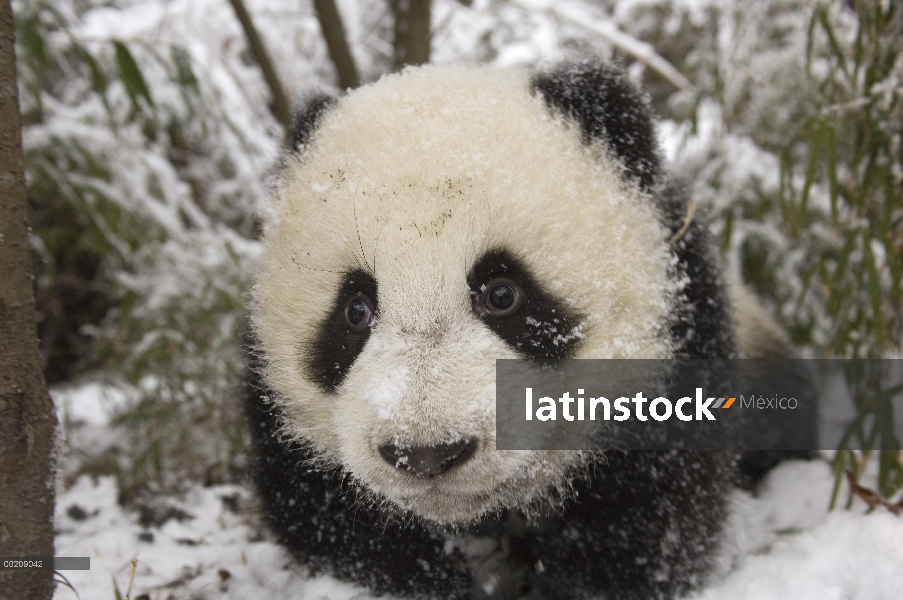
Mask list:
[[[495,361],[673,355],[651,195],[523,72],[386,77],[303,150],[253,293],[286,434],[441,523],[565,488],[581,453],[495,450]]]

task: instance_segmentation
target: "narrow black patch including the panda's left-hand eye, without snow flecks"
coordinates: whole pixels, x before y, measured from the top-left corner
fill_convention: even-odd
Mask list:
[[[364,349],[377,316],[376,280],[362,270],[349,271],[333,297],[317,333],[302,348],[308,377],[324,391],[342,384]]]

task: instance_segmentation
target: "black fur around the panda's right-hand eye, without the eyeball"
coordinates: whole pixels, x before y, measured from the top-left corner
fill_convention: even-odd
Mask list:
[[[483,315],[483,322],[525,358],[573,355],[581,339],[575,330],[581,319],[543,289],[529,269],[507,250],[492,250],[476,262],[467,275],[471,294],[478,297],[483,286],[496,277],[506,277],[520,287],[521,305],[509,316]]]

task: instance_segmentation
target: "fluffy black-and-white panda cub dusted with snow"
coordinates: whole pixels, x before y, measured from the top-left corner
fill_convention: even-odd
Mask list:
[[[734,457],[497,451],[499,358],[735,356],[623,72],[423,67],[298,115],[253,291],[257,485],[313,572],[400,598],[679,597]]]

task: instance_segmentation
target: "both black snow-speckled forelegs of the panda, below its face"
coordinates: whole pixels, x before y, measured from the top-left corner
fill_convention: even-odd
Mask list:
[[[502,577],[489,575],[497,593],[485,596],[472,581],[480,565],[447,551],[452,532],[381,510],[341,470],[310,466],[311,451],[281,439],[280,412],[256,380],[246,398],[262,508],[279,542],[315,573],[400,597],[649,600],[698,587],[712,566],[727,509],[725,454],[610,453],[575,481],[563,510],[536,524],[507,511],[484,518],[468,532],[497,544],[504,565]]]

